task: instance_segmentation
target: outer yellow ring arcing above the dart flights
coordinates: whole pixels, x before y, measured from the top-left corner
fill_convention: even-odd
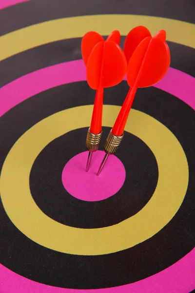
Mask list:
[[[117,28],[125,36],[137,25],[145,25],[153,35],[165,29],[168,41],[195,48],[193,23],[143,15],[90,15],[46,21],[6,34],[0,37],[0,60],[49,42],[82,37],[89,30],[109,35]]]

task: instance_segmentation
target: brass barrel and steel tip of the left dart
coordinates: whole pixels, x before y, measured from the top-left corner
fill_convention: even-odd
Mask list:
[[[86,138],[86,148],[89,151],[89,155],[87,159],[86,172],[88,172],[89,170],[93,152],[98,150],[99,143],[101,140],[101,134],[102,134],[102,131],[98,134],[94,134],[90,131],[90,128],[88,129],[87,138]]]

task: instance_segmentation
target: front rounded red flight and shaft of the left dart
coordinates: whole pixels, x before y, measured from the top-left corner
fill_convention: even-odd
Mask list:
[[[91,52],[87,63],[87,82],[97,89],[90,131],[101,131],[103,88],[119,84],[126,73],[126,60],[120,47],[111,41],[99,42]]]

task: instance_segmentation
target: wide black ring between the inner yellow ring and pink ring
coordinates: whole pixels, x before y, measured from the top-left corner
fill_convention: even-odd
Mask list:
[[[87,84],[82,82],[75,85],[64,85],[40,93],[1,118],[0,135],[4,137],[0,142],[1,166],[16,138],[36,120],[39,121],[40,117],[50,115],[54,106],[57,112],[81,103],[91,104],[92,91]],[[83,99],[78,99],[81,92],[85,93]],[[106,90],[106,104],[119,105],[121,95],[124,96],[126,92],[125,82],[108,92]],[[60,95],[67,97],[70,93],[72,99],[63,98],[60,102],[54,99]],[[45,96],[47,99],[44,99]],[[194,248],[195,112],[176,97],[156,88],[138,90],[134,108],[146,112],[167,126],[176,135],[186,153],[190,173],[189,186],[173,219],[152,238],[131,249],[108,255],[79,256],[52,251],[31,241],[12,224],[1,204],[0,262],[4,266],[29,279],[53,286],[75,289],[106,288],[136,282],[162,271]],[[33,121],[30,121],[28,112],[36,113]],[[19,121],[24,124],[22,131]]]

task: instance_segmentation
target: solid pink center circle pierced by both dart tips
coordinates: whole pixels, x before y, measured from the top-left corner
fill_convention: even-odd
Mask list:
[[[104,155],[101,150],[93,153],[88,172],[85,171],[88,151],[68,161],[62,171],[62,183],[68,193],[84,201],[99,201],[114,195],[122,187],[125,168],[115,155],[108,157],[100,175],[96,175]]]

